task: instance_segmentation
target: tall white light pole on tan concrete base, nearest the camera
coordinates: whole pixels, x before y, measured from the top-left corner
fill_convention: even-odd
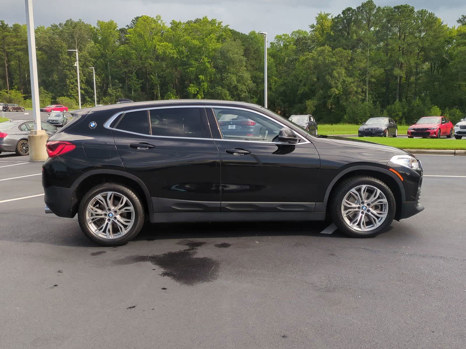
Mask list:
[[[48,135],[41,129],[41,111],[39,104],[39,82],[37,78],[37,57],[35,53],[34,34],[34,14],[32,0],[25,0],[26,5],[26,25],[27,25],[27,46],[29,51],[29,75],[31,77],[32,112],[34,115],[34,130],[27,137],[27,147],[23,144],[22,150],[28,151],[31,161],[47,160]]]

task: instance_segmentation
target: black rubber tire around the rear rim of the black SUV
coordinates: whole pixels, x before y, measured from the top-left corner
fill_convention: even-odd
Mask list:
[[[100,192],[107,192],[113,191],[116,193],[120,193],[126,196],[126,198],[131,202],[135,212],[135,218],[133,226],[130,228],[128,233],[125,235],[115,238],[115,239],[104,239],[101,238],[89,229],[86,223],[86,209],[89,205],[89,202]],[[111,211],[110,211],[111,212]],[[119,183],[103,183],[96,185],[95,187],[89,189],[89,191],[82,197],[81,202],[79,203],[78,208],[78,222],[79,226],[81,227],[82,232],[86,235],[90,240],[98,243],[102,246],[121,246],[129,242],[130,240],[134,239],[137,234],[141,231],[141,228],[144,225],[145,220],[145,210],[144,204],[136,192],[128,187],[125,187]]]

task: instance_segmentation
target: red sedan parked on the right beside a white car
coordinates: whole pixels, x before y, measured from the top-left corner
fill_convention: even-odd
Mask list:
[[[425,116],[408,128],[408,138],[446,136],[452,138],[453,124],[445,116]]]

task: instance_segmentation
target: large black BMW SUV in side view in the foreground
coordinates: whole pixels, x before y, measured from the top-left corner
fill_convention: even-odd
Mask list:
[[[130,241],[146,220],[329,217],[347,235],[370,237],[424,209],[413,155],[315,136],[257,105],[151,101],[72,114],[47,143],[46,212],[77,214],[84,234],[102,245]],[[220,127],[224,115],[241,122]],[[254,133],[238,132],[252,123]]]

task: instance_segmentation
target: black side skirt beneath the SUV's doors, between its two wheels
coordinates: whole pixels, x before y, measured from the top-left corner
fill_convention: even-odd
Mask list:
[[[151,223],[219,221],[323,221],[325,212],[160,212],[150,213]]]

